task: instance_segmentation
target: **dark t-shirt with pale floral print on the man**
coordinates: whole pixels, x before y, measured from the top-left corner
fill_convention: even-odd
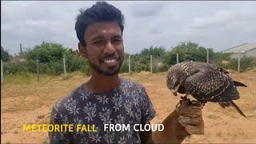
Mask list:
[[[126,78],[108,93],[92,93],[79,86],[66,98],[56,102],[50,124],[74,125],[74,132],[50,132],[50,143],[140,143],[134,124],[145,124],[155,110],[145,88]],[[97,132],[77,131],[77,124],[95,126]],[[113,131],[104,124],[130,124],[130,130]]]

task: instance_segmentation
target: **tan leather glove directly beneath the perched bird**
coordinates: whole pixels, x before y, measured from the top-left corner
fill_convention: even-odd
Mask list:
[[[175,111],[178,114],[178,122],[185,127],[188,134],[204,134],[202,108],[198,102],[192,102],[190,105],[184,102]]]

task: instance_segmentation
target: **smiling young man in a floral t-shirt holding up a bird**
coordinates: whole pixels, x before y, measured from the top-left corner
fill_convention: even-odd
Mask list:
[[[150,123],[156,113],[141,84],[118,77],[124,59],[122,12],[107,2],[96,2],[81,10],[75,30],[80,54],[90,63],[91,78],[54,105],[50,124],[72,124],[74,131],[50,132],[50,143],[146,143],[152,138],[182,142],[188,133],[178,123],[176,111],[163,122],[165,130],[153,137],[151,131],[133,129],[134,124]],[[78,124],[95,131],[79,131]],[[104,130],[104,124],[130,124],[130,130]]]

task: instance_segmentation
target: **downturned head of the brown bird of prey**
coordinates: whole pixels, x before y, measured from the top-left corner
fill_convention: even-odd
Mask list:
[[[174,96],[177,96],[178,88],[181,85],[180,78],[178,78],[176,75],[170,75],[170,77],[167,78],[166,84]]]

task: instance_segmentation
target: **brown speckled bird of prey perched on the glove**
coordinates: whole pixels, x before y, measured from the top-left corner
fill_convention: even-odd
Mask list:
[[[218,102],[222,108],[233,106],[246,118],[242,110],[233,102],[240,98],[237,86],[246,86],[242,82],[232,80],[228,71],[203,62],[180,62],[167,71],[166,85],[177,96],[192,95],[198,102]],[[190,100],[190,99],[189,99]]]

